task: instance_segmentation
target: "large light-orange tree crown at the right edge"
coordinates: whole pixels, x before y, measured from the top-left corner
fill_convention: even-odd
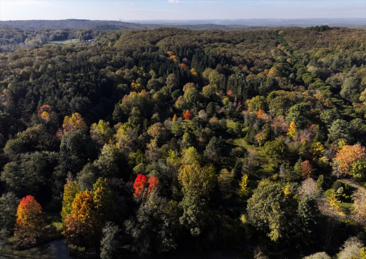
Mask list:
[[[345,145],[336,154],[336,161],[338,161],[338,170],[341,174],[348,174],[350,172],[350,165],[358,159],[366,158],[366,149],[360,144],[353,146]]]

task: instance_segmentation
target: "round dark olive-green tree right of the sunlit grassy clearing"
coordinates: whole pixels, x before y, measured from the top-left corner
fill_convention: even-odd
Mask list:
[[[284,162],[286,152],[287,147],[282,139],[267,141],[264,144],[264,153],[272,169],[278,168]]]

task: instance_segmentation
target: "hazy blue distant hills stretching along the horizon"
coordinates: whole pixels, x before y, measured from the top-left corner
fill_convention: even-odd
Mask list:
[[[96,29],[96,30],[139,30],[177,27],[191,30],[232,30],[253,27],[288,26],[340,26],[366,28],[366,18],[312,18],[312,19],[213,19],[213,20],[8,20],[0,21],[0,27],[22,30],[37,29]]]

